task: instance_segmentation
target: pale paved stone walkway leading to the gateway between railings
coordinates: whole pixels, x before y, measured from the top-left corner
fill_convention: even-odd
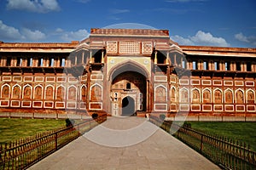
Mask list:
[[[108,117],[101,126],[29,169],[219,168],[144,118]]]

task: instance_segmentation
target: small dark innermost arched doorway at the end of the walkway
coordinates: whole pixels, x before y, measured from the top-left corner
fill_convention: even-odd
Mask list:
[[[122,116],[135,116],[135,101],[130,96],[122,99]]]

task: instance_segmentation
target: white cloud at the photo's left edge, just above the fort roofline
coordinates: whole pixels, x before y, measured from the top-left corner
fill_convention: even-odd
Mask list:
[[[13,26],[7,26],[3,24],[3,21],[0,20],[0,40],[16,40],[23,39],[20,34],[20,31]]]

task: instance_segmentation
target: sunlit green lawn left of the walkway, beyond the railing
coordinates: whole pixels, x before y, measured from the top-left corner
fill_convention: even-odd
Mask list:
[[[0,118],[0,143],[35,135],[45,130],[65,127],[65,120]]]

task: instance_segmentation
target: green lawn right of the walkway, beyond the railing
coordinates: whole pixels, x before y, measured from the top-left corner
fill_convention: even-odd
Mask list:
[[[189,122],[193,129],[236,139],[250,144],[256,151],[256,122]]]

